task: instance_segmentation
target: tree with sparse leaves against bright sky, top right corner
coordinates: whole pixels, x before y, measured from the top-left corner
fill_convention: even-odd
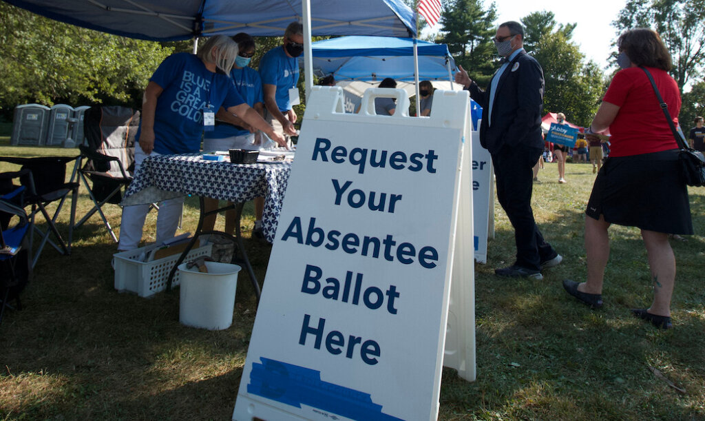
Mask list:
[[[673,59],[670,72],[680,91],[705,63],[705,0],[629,0],[612,25],[618,32],[652,28]]]

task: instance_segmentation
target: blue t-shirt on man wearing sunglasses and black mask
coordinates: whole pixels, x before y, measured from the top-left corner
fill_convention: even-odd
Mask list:
[[[259,75],[262,85],[276,86],[276,105],[279,111],[289,111],[289,90],[299,81],[298,59],[286,55],[284,47],[273,48],[259,60]]]

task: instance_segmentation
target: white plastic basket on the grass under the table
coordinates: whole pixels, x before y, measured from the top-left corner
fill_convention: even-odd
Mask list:
[[[142,253],[157,248],[157,245],[147,245],[146,247],[115,253],[113,255],[113,265],[115,268],[115,289],[118,291],[130,291],[137,293],[140,297],[149,297],[164,291],[169,272],[174,267],[180,253],[168,257],[163,257],[152,262],[140,262],[137,260]],[[188,252],[185,262],[196,257],[210,256],[212,244],[202,245]],[[179,284],[179,271],[174,274],[171,286]]]

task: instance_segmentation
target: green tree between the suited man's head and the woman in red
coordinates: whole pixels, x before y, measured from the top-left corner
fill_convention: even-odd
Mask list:
[[[604,92],[604,76],[570,41],[575,24],[558,25],[552,12],[522,18],[525,49],[544,69],[544,109],[563,112],[568,121],[589,126]]]

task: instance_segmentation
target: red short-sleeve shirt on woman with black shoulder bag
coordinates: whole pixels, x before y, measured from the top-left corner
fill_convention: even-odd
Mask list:
[[[678,84],[666,71],[651,67],[647,70],[654,76],[656,87],[668,104],[673,123],[678,124]],[[649,154],[678,147],[654,88],[641,68],[630,67],[619,71],[612,79],[603,101],[620,107],[610,125],[611,157]]]

